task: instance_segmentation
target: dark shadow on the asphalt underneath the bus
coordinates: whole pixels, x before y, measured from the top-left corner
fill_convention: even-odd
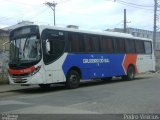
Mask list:
[[[138,77],[135,78],[135,80],[144,80],[144,77]],[[133,80],[133,81],[135,81]],[[121,78],[114,78],[111,81],[102,81],[102,80],[90,80],[90,81],[83,81],[81,82],[79,88],[83,87],[92,87],[92,86],[99,86],[99,85],[105,85],[105,84],[116,84],[119,82],[132,82],[132,81],[124,81]],[[43,94],[43,93],[50,93],[50,92],[57,92],[57,91],[64,91],[64,90],[72,90],[72,89],[67,89],[64,84],[53,84],[50,88],[48,89],[41,89],[40,87],[29,87],[29,88],[23,88],[22,89],[16,89],[16,90],[9,90],[5,92],[15,92],[15,93],[20,93],[20,94]]]

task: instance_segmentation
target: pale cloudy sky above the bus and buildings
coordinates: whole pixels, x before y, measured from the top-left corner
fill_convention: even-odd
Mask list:
[[[127,27],[153,30],[154,0],[54,0],[56,26],[77,25],[80,29],[105,30],[123,28],[124,9]],[[31,21],[54,25],[53,0],[0,0],[0,28]]]

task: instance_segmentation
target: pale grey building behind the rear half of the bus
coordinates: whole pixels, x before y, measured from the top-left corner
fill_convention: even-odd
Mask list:
[[[106,31],[112,32],[123,32],[122,28],[107,29]],[[153,39],[153,31],[137,29],[137,28],[127,28],[126,33],[132,34],[135,37],[149,38]],[[156,35],[156,50],[160,50],[160,32]]]

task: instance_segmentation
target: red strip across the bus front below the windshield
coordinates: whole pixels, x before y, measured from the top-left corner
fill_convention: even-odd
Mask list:
[[[36,68],[34,66],[30,67],[30,68],[25,68],[25,69],[21,69],[21,70],[15,70],[15,69],[10,69],[9,68],[9,73],[12,75],[22,75],[22,74],[29,74],[32,73]]]

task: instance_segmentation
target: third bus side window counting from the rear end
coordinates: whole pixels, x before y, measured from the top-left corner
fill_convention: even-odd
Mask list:
[[[135,53],[135,41],[126,39],[125,41],[125,48],[127,53]]]

